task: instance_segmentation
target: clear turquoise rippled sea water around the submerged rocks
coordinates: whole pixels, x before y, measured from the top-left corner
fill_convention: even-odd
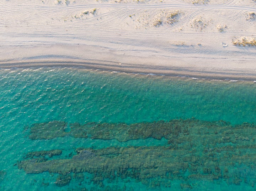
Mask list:
[[[223,175],[215,180],[173,178],[169,187],[149,186],[133,177],[92,181],[93,173],[79,173],[58,186],[58,173],[31,173],[18,168],[28,152],[62,150],[47,160],[71,159],[76,148],[166,146],[167,139],[91,139],[63,136],[30,139],[33,124],[61,121],[127,125],[173,119],[223,120],[230,126],[256,122],[256,83],[212,81],[182,77],[124,74],[78,68],[31,68],[0,70],[0,190],[254,190],[254,176],[229,184]],[[207,128],[207,127],[206,127]],[[249,132],[250,135],[252,133]],[[225,137],[225,136],[224,136]],[[236,137],[237,138],[237,137]],[[254,137],[250,137],[250,141]],[[244,143],[245,141],[243,141]],[[196,143],[195,143],[196,144]],[[229,143],[228,143],[229,144]],[[230,142],[234,144],[234,142]],[[254,146],[250,142],[250,147]],[[255,152],[255,148],[250,150]],[[97,164],[96,164],[97,165]],[[241,164],[242,165],[242,164]],[[255,164],[245,169],[254,169]],[[215,169],[216,170],[216,169]],[[248,170],[246,171],[248,172]],[[184,177],[187,177],[185,171]],[[250,173],[256,174],[254,171]],[[241,174],[241,173],[240,173]],[[249,182],[249,183],[248,183]],[[247,184],[248,183],[248,184]],[[255,177],[256,183],[256,177]],[[151,185],[151,184],[150,184]]]

